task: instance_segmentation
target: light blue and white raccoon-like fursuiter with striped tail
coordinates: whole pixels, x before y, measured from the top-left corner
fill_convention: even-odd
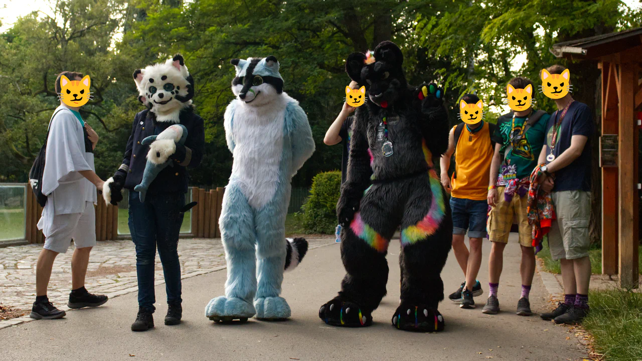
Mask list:
[[[315,150],[306,112],[283,92],[275,57],[232,59],[237,96],[225,110],[225,137],[234,156],[220,217],[227,260],[225,296],[205,307],[213,321],[290,317],[281,294],[283,271],[308,250],[286,240],[290,180]]]

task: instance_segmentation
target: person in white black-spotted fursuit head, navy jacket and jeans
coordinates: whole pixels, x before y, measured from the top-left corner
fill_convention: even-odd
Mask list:
[[[136,248],[139,312],[132,331],[146,331],[154,327],[154,259],[158,248],[165,277],[168,312],[166,325],[180,323],[182,299],[180,263],[178,261],[178,234],[183,223],[185,194],[189,183],[189,168],[195,168],[203,159],[205,133],[203,119],[196,115],[191,99],[194,81],[183,57],[175,55],[167,62],[154,64],[134,72],[139,90],[139,101],[148,109],[136,114],[132,134],[125,148],[123,164],[114,176],[105,182],[103,196],[117,204],[123,199],[121,189],[129,189],[129,229]],[[175,143],[169,155],[173,166],[164,168],[152,181],[144,202],[134,187],[143,180],[151,145],[143,139],[159,135],[173,124],[187,128],[184,145]],[[160,143],[159,143],[160,144]]]

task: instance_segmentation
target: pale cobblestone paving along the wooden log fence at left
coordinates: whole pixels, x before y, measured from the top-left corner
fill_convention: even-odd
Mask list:
[[[308,239],[309,248],[334,243],[334,237]],[[30,310],[35,299],[35,268],[42,245],[20,245],[0,248],[0,303],[19,310]],[[71,288],[71,255],[73,245],[56,257],[49,281],[48,296],[55,306],[68,310]],[[182,239],[178,242],[181,278],[198,276],[225,268],[225,252],[220,238]],[[156,255],[155,284],[164,283],[162,267]],[[98,242],[92,249],[85,280],[94,294],[117,297],[138,290],[134,243],[131,240]],[[20,323],[12,319],[3,322]],[[30,320],[30,319],[29,319]],[[1,328],[1,325],[0,325]]]

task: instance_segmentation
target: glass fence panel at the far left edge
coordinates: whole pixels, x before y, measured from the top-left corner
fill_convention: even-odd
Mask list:
[[[0,241],[24,240],[26,184],[0,183]]]

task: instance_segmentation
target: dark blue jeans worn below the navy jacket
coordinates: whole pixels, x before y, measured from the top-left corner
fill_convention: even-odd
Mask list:
[[[168,303],[181,303],[178,233],[183,224],[180,208],[184,193],[148,194],[141,202],[139,193],[129,192],[129,230],[136,246],[138,305],[154,312],[154,269],[156,248],[165,276]]]

